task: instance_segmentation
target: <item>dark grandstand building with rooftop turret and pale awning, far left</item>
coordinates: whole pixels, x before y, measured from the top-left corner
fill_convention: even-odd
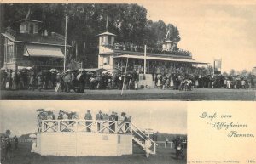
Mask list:
[[[65,37],[55,32],[48,34],[46,30],[42,30],[42,21],[25,19],[20,20],[18,24],[18,31],[8,27],[2,33],[3,68],[17,70],[34,66],[40,69],[62,69]]]

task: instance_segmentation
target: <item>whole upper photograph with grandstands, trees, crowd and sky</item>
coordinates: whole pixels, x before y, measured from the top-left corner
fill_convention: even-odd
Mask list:
[[[0,99],[256,100],[256,3],[0,4]]]

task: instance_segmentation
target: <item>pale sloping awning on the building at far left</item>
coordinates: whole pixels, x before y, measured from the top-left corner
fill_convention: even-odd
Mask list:
[[[59,47],[31,44],[25,46],[24,56],[64,58]]]

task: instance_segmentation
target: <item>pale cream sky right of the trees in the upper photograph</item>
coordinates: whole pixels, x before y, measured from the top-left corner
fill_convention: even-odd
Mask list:
[[[222,59],[222,71],[252,71],[256,66],[256,1],[139,1],[149,20],[177,26],[193,58],[210,64]]]

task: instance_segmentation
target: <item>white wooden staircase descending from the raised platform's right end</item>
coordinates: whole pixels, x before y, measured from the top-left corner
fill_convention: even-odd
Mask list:
[[[132,141],[134,141],[137,145],[139,145],[143,150],[145,148],[145,140],[147,139],[147,135],[143,133],[138,127],[131,123],[132,129]],[[155,155],[155,149],[157,144],[149,139],[151,142],[151,147],[149,148],[150,154]]]

